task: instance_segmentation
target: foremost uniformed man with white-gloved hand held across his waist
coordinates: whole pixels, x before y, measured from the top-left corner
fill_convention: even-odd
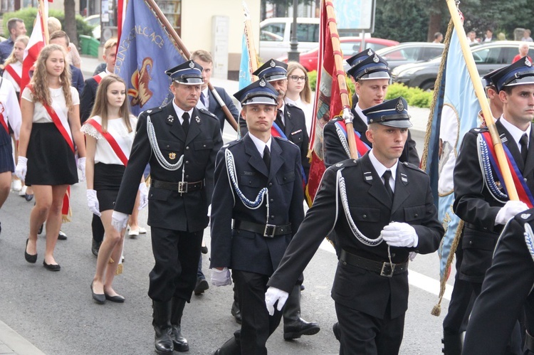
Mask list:
[[[325,171],[313,206],[267,284],[266,304],[274,312],[325,235],[335,230],[341,251],[332,297],[340,354],[398,354],[409,253],[434,253],[444,233],[429,177],[399,162],[412,126],[406,107],[398,97],[364,111],[372,149]]]

